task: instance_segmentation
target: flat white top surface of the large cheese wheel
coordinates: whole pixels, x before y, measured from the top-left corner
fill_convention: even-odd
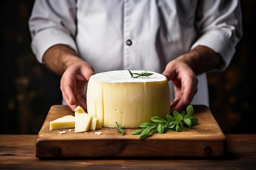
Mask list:
[[[145,71],[142,70],[130,71],[132,73],[145,73]],[[167,78],[160,73],[155,73],[153,71],[146,71],[146,73],[153,73],[153,75],[150,75],[148,77],[143,76],[139,78],[132,78],[128,70],[117,70],[97,73],[92,75],[90,79],[109,83],[161,82],[167,80]]]

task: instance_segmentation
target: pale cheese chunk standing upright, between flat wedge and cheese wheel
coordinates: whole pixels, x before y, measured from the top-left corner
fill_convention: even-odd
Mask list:
[[[87,132],[92,121],[92,116],[87,113],[75,112],[75,132]]]

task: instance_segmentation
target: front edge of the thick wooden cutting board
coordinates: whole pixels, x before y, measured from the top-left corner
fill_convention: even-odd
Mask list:
[[[162,140],[162,141],[154,141],[154,140],[137,140],[137,139],[117,139],[113,140],[105,140],[104,142],[99,144],[99,140],[92,140],[90,143],[94,143],[94,146],[83,146],[86,140],[80,140],[79,143],[76,141],[76,150],[92,150],[92,148],[103,148],[109,147],[109,144],[113,144],[115,148],[118,148],[118,153],[113,152],[115,148],[110,147],[111,152],[105,152],[102,155],[102,152],[71,152],[70,148],[67,146],[72,146],[73,141],[63,141],[61,140],[53,140],[53,141],[42,141],[36,140],[35,142],[35,157],[38,158],[114,158],[114,157],[198,157],[198,158],[210,158],[210,157],[221,157],[226,153],[226,138],[224,140],[204,140],[198,144],[198,140],[190,141],[194,143],[193,149],[189,150],[189,152],[182,152],[182,155],[179,155],[180,148],[186,148],[187,143],[186,141],[179,141],[179,140]],[[122,142],[120,142],[122,141]],[[125,142],[126,141],[126,142]],[[150,150],[146,146],[152,147],[152,144],[155,143],[155,147],[159,146],[166,146],[162,148],[161,152],[156,152],[155,149]],[[79,145],[81,144],[81,145]],[[120,145],[121,144],[121,145]],[[168,149],[168,146],[171,148],[171,152]],[[78,145],[78,146],[77,146]],[[218,146],[218,147],[217,147]],[[208,148],[209,155],[203,153],[204,147]],[[71,147],[72,148],[72,147]],[[42,152],[40,152],[40,150]],[[131,150],[134,150],[132,152]],[[79,154],[77,154],[79,153]]]

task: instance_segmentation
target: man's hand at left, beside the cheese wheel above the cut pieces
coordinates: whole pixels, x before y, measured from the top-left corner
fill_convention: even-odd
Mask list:
[[[63,73],[61,77],[62,96],[72,110],[78,105],[85,111],[87,110],[84,88],[93,74],[92,66],[84,61],[75,62]]]

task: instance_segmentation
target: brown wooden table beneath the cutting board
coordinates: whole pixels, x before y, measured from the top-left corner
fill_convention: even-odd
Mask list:
[[[256,134],[226,137],[227,154],[211,159],[38,159],[36,135],[0,135],[0,169],[255,170]]]

